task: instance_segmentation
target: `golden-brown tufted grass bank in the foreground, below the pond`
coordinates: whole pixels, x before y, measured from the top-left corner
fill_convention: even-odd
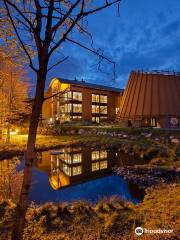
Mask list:
[[[27,212],[24,240],[133,240],[134,229],[173,229],[172,234],[144,234],[142,240],[178,239],[180,184],[148,190],[142,203],[133,205],[118,198],[97,204],[80,201],[32,204]],[[10,239],[14,205],[0,203],[0,236]]]

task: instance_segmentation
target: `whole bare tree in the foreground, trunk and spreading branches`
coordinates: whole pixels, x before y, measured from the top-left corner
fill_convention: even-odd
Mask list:
[[[36,133],[44,101],[47,73],[54,66],[65,61],[67,57],[51,66],[50,59],[66,41],[97,55],[99,63],[105,59],[114,65],[113,61],[103,55],[102,50],[93,48],[92,36],[87,30],[87,17],[113,5],[117,5],[119,9],[121,0],[2,0],[1,2],[29,61],[29,66],[37,77],[27,142],[24,180],[12,236],[12,239],[20,239],[28,206],[27,196],[31,183]],[[77,33],[87,35],[91,39],[91,46],[88,47],[75,39],[74,36],[77,36]],[[34,65],[31,49],[37,56],[37,66]]]

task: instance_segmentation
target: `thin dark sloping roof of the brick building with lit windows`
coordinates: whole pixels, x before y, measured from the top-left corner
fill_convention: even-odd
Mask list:
[[[88,88],[102,89],[102,90],[112,91],[112,92],[117,92],[117,93],[121,93],[121,92],[124,91],[124,90],[121,89],[121,88],[108,87],[108,86],[99,85],[99,84],[94,84],[94,83],[87,83],[87,82],[85,82],[85,81],[69,80],[69,79],[63,79],[63,78],[56,78],[56,79],[59,79],[59,81],[60,81],[61,83],[73,84],[73,85],[80,86],[80,87],[88,87]]]

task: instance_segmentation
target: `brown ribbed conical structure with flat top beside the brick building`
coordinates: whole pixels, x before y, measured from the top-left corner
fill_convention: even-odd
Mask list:
[[[130,74],[118,119],[129,126],[179,127],[180,74]]]

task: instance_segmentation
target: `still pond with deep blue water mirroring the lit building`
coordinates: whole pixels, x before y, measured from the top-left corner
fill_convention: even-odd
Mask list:
[[[33,168],[29,200],[36,203],[76,200],[95,203],[117,196],[139,203],[144,191],[113,172],[113,167],[140,164],[139,161],[116,148],[68,147],[40,152]],[[21,161],[17,173],[22,172],[23,165]]]

